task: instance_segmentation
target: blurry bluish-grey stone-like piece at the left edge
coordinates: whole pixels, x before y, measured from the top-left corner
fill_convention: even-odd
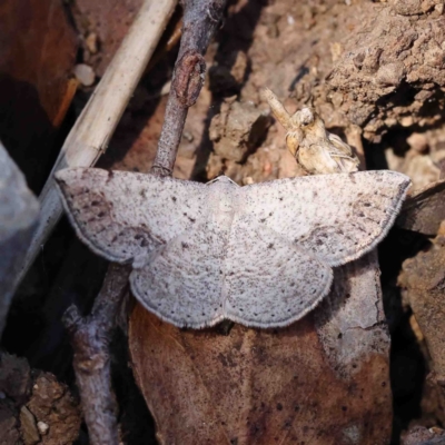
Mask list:
[[[0,338],[20,267],[37,225],[39,205],[0,142]]]

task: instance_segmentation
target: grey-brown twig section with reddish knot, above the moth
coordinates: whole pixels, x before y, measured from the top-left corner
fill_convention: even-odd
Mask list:
[[[204,53],[222,18],[226,0],[184,0],[182,38],[151,172],[171,176],[188,108],[199,96],[206,72]]]

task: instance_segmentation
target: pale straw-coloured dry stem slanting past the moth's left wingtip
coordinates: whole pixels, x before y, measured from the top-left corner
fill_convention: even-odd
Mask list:
[[[91,167],[105,152],[144,70],[162,36],[177,0],[146,0],[106,73],[68,135],[39,197],[41,218],[19,270],[20,283],[62,214],[53,174],[66,167]]]

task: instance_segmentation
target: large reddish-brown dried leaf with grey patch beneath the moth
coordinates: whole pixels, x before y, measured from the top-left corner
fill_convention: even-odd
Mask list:
[[[181,330],[136,306],[134,370],[160,443],[386,443],[388,338],[369,295],[373,258],[337,269],[315,320],[283,329]]]

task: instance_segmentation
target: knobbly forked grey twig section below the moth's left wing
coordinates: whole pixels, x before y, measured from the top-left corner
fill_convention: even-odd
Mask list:
[[[91,315],[70,306],[63,323],[75,350],[73,367],[85,421],[93,445],[118,445],[116,399],[111,388],[109,343],[116,316],[128,290],[129,267],[111,264]]]

